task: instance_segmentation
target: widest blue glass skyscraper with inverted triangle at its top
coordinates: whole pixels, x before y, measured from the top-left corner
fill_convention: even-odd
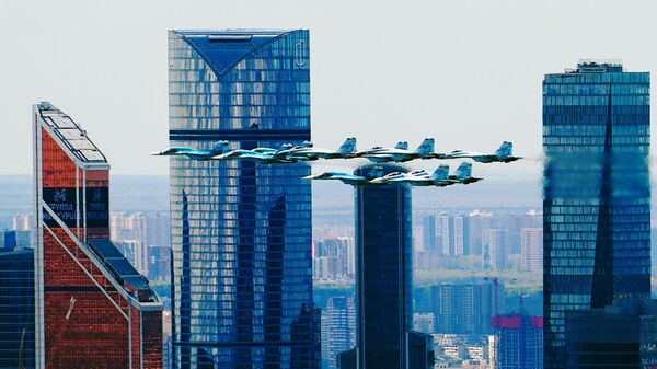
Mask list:
[[[170,31],[171,146],[310,139],[308,31]],[[173,361],[315,368],[311,186],[303,164],[172,157]]]

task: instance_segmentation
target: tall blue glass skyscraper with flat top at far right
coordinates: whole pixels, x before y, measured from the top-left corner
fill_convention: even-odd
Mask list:
[[[566,311],[650,293],[649,73],[580,61],[543,80],[545,367]]]

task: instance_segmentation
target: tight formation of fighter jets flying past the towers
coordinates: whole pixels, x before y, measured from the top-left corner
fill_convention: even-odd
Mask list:
[[[437,153],[434,150],[434,139],[426,138],[416,150],[408,150],[408,142],[399,142],[394,148],[373,147],[368,150],[356,150],[356,138],[349,137],[337,150],[319,149],[310,141],[304,141],[300,146],[286,143],[275,148],[258,147],[251,150],[229,149],[229,141],[219,141],[210,150],[199,150],[187,147],[171,147],[166,150],[153,152],[152,155],[184,155],[192,160],[252,160],[268,164],[285,164],[297,162],[309,162],[319,159],[355,159],[364,158],[373,163],[404,163],[412,160],[450,160],[450,159],[471,159],[480,163],[502,162],[509,163],[522,159],[514,157],[514,145],[510,141],[504,141],[493,153],[476,153],[454,150],[449,153]],[[406,183],[411,186],[436,186],[445,187],[453,184],[471,184],[483,178],[472,176],[472,163],[463,162],[454,174],[449,174],[449,166],[439,165],[433,174],[426,171],[414,171],[411,173],[394,172],[383,175],[383,169],[374,165],[366,175],[355,175],[342,172],[324,172],[321,174],[308,175],[307,180],[337,180],[345,184],[361,185],[390,185]]]

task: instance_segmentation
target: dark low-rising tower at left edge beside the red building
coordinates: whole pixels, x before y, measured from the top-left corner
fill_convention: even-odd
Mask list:
[[[0,368],[34,368],[32,249],[0,249]]]

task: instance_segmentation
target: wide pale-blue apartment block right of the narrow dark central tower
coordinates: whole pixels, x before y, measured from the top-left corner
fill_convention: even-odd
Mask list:
[[[497,280],[481,284],[431,286],[436,333],[487,334],[491,318],[502,311],[504,286]]]

